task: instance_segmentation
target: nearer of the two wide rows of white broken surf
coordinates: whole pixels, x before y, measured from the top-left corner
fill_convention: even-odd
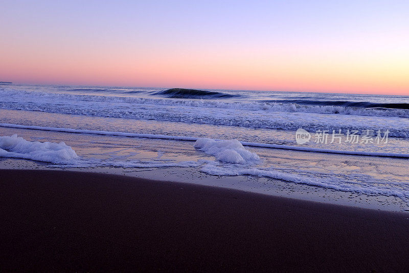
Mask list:
[[[54,102],[53,102],[54,103]],[[60,101],[58,104],[36,104],[36,103],[4,103],[0,102],[0,109],[10,110],[24,110],[24,111],[39,111],[47,113],[58,113],[68,115],[80,115],[80,116],[97,116],[97,117],[112,117],[112,118],[126,118],[126,119],[143,119],[143,120],[157,120],[157,121],[172,121],[172,122],[184,122],[184,123],[196,123],[196,124],[212,124],[212,125],[227,125],[243,128],[262,128],[262,129],[274,129],[274,130],[298,130],[303,128],[309,132],[316,132],[317,130],[328,130],[332,132],[335,130],[356,130],[363,132],[363,130],[374,131],[386,131],[389,130],[390,137],[409,138],[409,131],[407,126],[404,126],[407,122],[402,122],[399,126],[391,127],[388,122],[376,122],[376,119],[369,121],[360,120],[360,118],[354,121],[348,120],[342,117],[335,122],[327,122],[325,120],[316,120],[312,118],[299,118],[297,114],[292,114],[293,118],[288,119],[288,113],[286,112],[274,112],[274,113],[255,113],[252,118],[248,118],[248,114],[245,111],[224,111],[223,109],[208,109],[195,111],[195,114],[191,114],[192,109],[182,108],[170,108],[170,109],[156,109],[150,105],[144,104],[143,106],[124,107],[118,105],[100,105],[99,103],[90,105],[70,105],[64,104]],[[230,112],[230,113],[229,113]],[[397,118],[392,118],[391,122],[398,122]],[[4,122],[8,122],[4,120]]]

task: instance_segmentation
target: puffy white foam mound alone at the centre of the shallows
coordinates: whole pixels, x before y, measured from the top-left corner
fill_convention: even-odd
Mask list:
[[[236,139],[214,140],[210,138],[199,138],[196,140],[194,147],[226,163],[245,164],[258,162],[260,160],[258,155],[246,150]]]

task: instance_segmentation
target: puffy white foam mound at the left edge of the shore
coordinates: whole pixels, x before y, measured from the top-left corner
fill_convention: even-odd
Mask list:
[[[17,135],[0,136],[0,157],[24,158],[43,162],[66,163],[79,157],[64,142],[28,141]]]

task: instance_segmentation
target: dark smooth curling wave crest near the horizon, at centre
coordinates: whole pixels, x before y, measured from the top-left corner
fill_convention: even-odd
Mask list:
[[[212,98],[233,98],[240,97],[240,95],[233,95],[215,91],[172,88],[159,92],[154,92],[151,95],[163,95],[168,98],[197,98],[197,99],[212,99]]]

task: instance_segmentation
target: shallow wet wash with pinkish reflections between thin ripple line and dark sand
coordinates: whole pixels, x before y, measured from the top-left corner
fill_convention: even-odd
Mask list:
[[[64,132],[43,132],[31,129],[2,128],[5,135],[18,134],[28,141],[65,142],[82,159],[96,159],[107,161],[106,166],[86,166],[82,168],[61,168],[84,172],[101,172],[112,174],[126,174],[132,177],[142,177],[157,180],[171,180],[192,184],[215,185],[225,188],[235,188],[243,191],[264,193],[275,196],[286,196],[303,200],[326,202],[332,204],[376,208],[385,211],[409,211],[409,202],[396,193],[389,193],[389,187],[395,189],[392,181],[401,181],[402,186],[396,187],[398,194],[405,194],[404,185],[407,183],[406,161],[399,158],[370,158],[353,155],[316,154],[302,151],[287,151],[280,149],[252,148],[252,151],[264,161],[260,170],[273,167],[278,173],[240,176],[217,176],[202,171],[202,166],[186,167],[178,162],[200,160],[215,160],[211,155],[197,151],[186,141],[155,140],[147,138],[127,138],[113,136],[98,136],[88,134],[72,134]],[[109,164],[120,166],[111,167]],[[137,163],[135,167],[128,162]],[[147,166],[140,165],[147,161]],[[168,169],[157,169],[149,165],[175,163],[176,166]],[[52,163],[44,163],[28,159],[0,158],[0,169],[44,169],[55,170]],[[282,170],[281,167],[283,168]],[[266,169],[267,168],[267,169]],[[389,171],[385,171],[389,170]],[[246,170],[244,170],[246,171]],[[297,177],[289,180],[279,180],[281,174],[305,172],[300,177],[312,177],[313,181],[298,182]],[[339,180],[333,175],[338,176]],[[351,177],[351,174],[356,174]],[[370,175],[371,181],[365,179]],[[317,179],[320,177],[320,179]],[[333,177],[333,178],[332,178]],[[352,179],[352,180],[351,180]],[[389,182],[391,181],[391,183]],[[312,183],[311,183],[312,182]],[[374,186],[378,185],[378,186]],[[385,187],[386,186],[386,187]],[[345,187],[346,191],[339,191]],[[378,194],[371,194],[369,191]],[[369,194],[366,194],[369,192]],[[392,191],[393,192],[393,191]]]

